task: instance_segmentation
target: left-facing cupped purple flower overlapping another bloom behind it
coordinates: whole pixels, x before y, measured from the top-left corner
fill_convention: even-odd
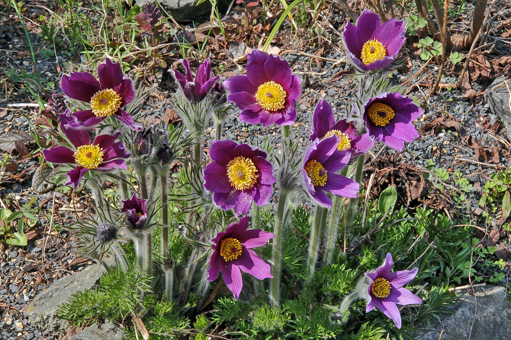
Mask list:
[[[353,179],[336,174],[350,162],[351,153],[337,150],[341,139],[336,135],[316,139],[307,149],[301,173],[307,190],[319,204],[330,207],[332,201],[326,191],[342,197],[356,198],[359,184]]]

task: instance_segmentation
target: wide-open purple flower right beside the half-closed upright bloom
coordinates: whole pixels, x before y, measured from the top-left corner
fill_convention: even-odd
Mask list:
[[[243,110],[241,121],[263,126],[292,125],[301,80],[291,74],[288,62],[254,49],[247,56],[246,69],[247,75],[235,75],[224,81],[228,100]]]

